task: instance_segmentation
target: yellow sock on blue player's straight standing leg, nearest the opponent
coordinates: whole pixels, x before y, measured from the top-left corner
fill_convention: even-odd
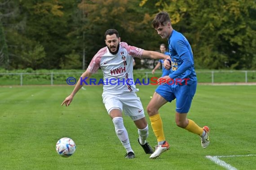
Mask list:
[[[150,122],[157,141],[159,142],[165,140],[163,135],[163,123],[160,115],[156,114],[154,116],[150,116]]]

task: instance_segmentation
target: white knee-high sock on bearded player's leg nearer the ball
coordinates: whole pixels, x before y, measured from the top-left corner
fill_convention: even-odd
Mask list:
[[[115,125],[115,133],[121,143],[123,144],[124,148],[126,149],[126,152],[133,152],[130,140],[128,137],[128,132],[126,128],[124,127],[124,121],[122,117],[115,117],[113,120],[113,123]]]

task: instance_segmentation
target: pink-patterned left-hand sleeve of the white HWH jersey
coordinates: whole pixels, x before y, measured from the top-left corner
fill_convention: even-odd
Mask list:
[[[92,61],[90,62],[87,70],[90,73],[96,73],[97,70],[100,68],[100,62],[102,59],[102,56],[107,52],[107,47],[104,47],[100,49],[96,55],[94,55]]]

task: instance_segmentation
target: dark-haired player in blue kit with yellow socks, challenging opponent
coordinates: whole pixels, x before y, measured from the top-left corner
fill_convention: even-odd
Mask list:
[[[161,153],[169,149],[158,110],[165,103],[172,102],[174,99],[176,99],[175,119],[177,126],[199,135],[202,147],[206,148],[210,143],[209,128],[207,126],[199,127],[193,120],[187,119],[197,85],[190,44],[181,33],[172,29],[168,13],[158,13],[152,24],[161,38],[168,38],[168,50],[171,59],[165,60],[164,65],[165,68],[171,68],[171,72],[169,75],[160,78],[161,82],[165,82],[165,84],[157,87],[147,106],[151,126],[158,141],[158,145],[150,158],[159,157]]]

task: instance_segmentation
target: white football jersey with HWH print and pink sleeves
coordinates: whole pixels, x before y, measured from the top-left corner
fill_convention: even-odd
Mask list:
[[[119,43],[119,51],[116,55],[109,52],[107,47],[100,49],[94,55],[87,70],[96,73],[102,69],[104,76],[103,92],[112,94],[122,92],[137,92],[133,79],[133,57],[142,58],[141,48],[129,46],[125,42]],[[98,82],[99,80],[97,80]]]

